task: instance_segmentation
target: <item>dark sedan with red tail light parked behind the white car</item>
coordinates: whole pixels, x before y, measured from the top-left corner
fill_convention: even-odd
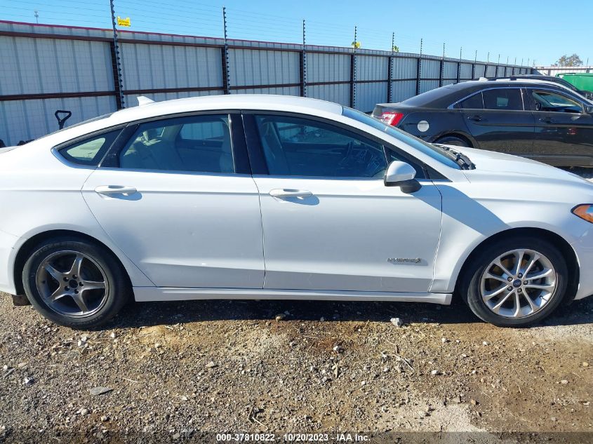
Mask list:
[[[556,83],[467,81],[378,104],[373,116],[426,142],[593,166],[593,102]]]

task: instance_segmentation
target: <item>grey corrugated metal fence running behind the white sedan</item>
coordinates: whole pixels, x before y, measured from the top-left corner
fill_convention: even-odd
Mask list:
[[[121,58],[121,81],[116,58]],[[306,95],[364,112],[450,83],[528,67],[415,53],[0,21],[0,139],[16,144],[153,100]]]

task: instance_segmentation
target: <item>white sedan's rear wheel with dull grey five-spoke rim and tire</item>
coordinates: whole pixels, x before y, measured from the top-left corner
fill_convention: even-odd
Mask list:
[[[126,271],[113,253],[74,237],[37,245],[25,262],[22,283],[39,313],[76,329],[107,323],[131,296]]]

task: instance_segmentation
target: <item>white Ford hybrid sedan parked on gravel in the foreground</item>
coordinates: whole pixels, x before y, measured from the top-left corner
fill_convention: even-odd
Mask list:
[[[140,102],[0,149],[0,290],[55,323],[131,297],[460,297],[520,326],[593,293],[580,177],[321,100]]]

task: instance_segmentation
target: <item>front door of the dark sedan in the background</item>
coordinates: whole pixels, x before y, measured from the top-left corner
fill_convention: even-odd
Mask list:
[[[535,119],[533,159],[557,166],[593,166],[593,116],[576,97],[528,88]]]

